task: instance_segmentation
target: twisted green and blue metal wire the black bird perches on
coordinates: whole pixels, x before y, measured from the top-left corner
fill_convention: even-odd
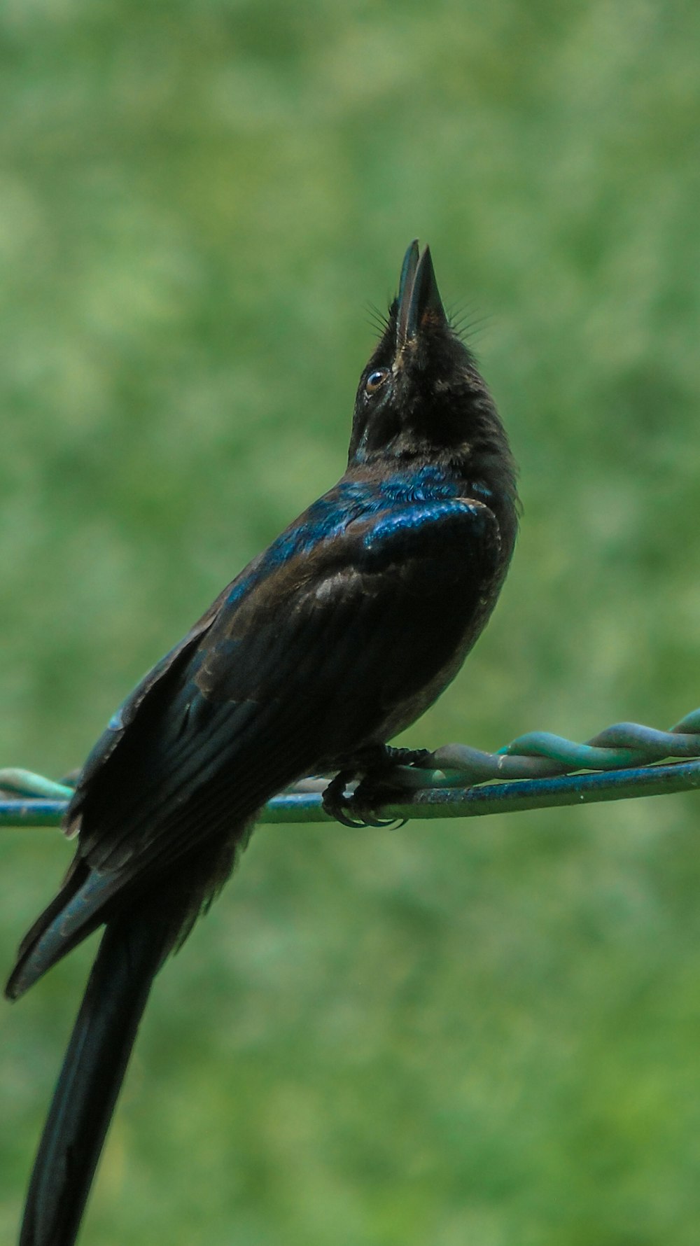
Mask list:
[[[270,800],[259,821],[330,821],[321,804],[326,784],[321,776],[303,779]],[[549,731],[529,731],[498,753],[446,744],[427,754],[420,768],[391,771],[380,812],[389,819],[475,817],[696,787],[700,709],[669,731],[615,723],[585,744]],[[0,826],[57,826],[71,792],[66,782],[29,770],[0,769]]]

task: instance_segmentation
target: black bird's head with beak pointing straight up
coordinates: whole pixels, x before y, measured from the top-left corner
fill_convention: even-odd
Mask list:
[[[430,249],[406,252],[399,294],[360,378],[349,465],[428,459],[458,468],[507,442],[488,389],[442,307]]]

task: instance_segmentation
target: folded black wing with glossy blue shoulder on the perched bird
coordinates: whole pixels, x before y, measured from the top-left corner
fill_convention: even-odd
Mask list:
[[[272,546],[255,582],[234,582],[132,694],[116,746],[88,760],[77,855],[22,944],[12,989],[93,930],[117,893],[187,861],[194,875],[219,840],[220,863],[193,886],[194,920],[269,796],[381,741],[397,705],[410,723],[436,680],[438,694],[498,562],[493,513],[465,498],[387,510],[311,546],[301,533],[284,557]]]

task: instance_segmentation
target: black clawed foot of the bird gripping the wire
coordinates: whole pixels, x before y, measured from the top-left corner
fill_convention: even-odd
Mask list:
[[[350,759],[350,765],[339,770],[329,782],[323,795],[326,814],[343,826],[355,829],[404,826],[405,817],[400,821],[395,817],[377,817],[375,810],[401,791],[399,782],[391,782],[391,771],[396,766],[420,766],[430,756],[430,749],[396,749],[389,744],[364,750]],[[346,796],[348,785],[357,775],[361,775],[357,786]]]

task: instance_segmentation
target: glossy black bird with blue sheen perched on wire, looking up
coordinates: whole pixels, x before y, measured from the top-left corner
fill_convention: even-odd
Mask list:
[[[517,472],[414,240],[364,368],[348,466],[126,698],[65,815],[77,836],[7,982],[16,999],[105,927],[31,1175],[20,1246],[71,1246],[153,979],[304,775],[362,821],[389,741],[453,679],[516,542]],[[350,780],[359,780],[348,794]]]

